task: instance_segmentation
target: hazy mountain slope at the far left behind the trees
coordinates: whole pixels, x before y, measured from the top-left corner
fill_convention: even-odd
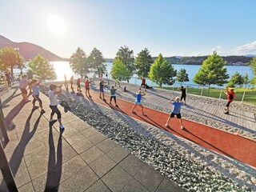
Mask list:
[[[64,58],[58,57],[58,55],[51,53],[49,50],[37,46],[30,42],[12,42],[10,39],[0,35],[0,48],[4,46],[11,46],[19,49],[19,53],[25,58],[26,61],[34,58],[37,54],[41,54],[44,58],[47,58],[50,62],[66,61]]]

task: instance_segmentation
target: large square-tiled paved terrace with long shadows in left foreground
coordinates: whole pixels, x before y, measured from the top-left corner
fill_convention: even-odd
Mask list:
[[[183,191],[151,166],[70,112],[62,111],[65,131],[46,114],[21,102],[19,90],[2,95],[10,142],[5,148],[19,191]],[[6,185],[0,174],[0,191]]]

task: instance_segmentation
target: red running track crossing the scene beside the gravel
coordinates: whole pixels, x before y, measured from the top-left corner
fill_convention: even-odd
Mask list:
[[[85,90],[83,89],[82,91],[85,94]],[[172,118],[169,123],[170,127],[166,128],[165,124],[169,114],[158,110],[153,110],[145,106],[144,112],[146,113],[146,116],[142,115],[141,108],[139,106],[137,106],[137,108],[134,110],[137,113],[132,114],[131,109],[134,106],[134,103],[132,102],[127,102],[117,97],[118,107],[115,107],[113,100],[112,105],[109,104],[110,96],[105,95],[107,101],[103,102],[102,99],[99,98],[98,92],[90,90],[90,94],[92,95],[92,100],[94,102],[98,102],[103,106],[118,110],[123,114],[129,115],[130,117],[149,123],[150,125],[156,126],[159,129],[166,130],[171,134],[186,138],[187,140],[195,142],[200,146],[204,146],[210,150],[224,154],[227,157],[235,158],[240,162],[244,162],[250,166],[256,167],[256,141],[254,140],[243,138],[235,134],[230,134],[226,131],[205,126],[198,122],[192,122],[184,118],[182,119],[182,124],[185,127],[184,130],[181,130],[177,118]],[[170,108],[171,107],[172,105],[170,104]]]

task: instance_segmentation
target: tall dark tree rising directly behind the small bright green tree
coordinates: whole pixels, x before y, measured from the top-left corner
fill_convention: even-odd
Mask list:
[[[131,75],[134,74],[135,66],[133,50],[130,50],[128,46],[121,46],[115,58],[119,58],[122,61]],[[126,78],[127,82],[129,82],[130,76]]]

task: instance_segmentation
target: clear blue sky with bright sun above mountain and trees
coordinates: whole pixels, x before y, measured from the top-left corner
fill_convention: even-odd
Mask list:
[[[152,56],[256,54],[255,0],[0,0],[0,34],[60,57],[121,46]]]

